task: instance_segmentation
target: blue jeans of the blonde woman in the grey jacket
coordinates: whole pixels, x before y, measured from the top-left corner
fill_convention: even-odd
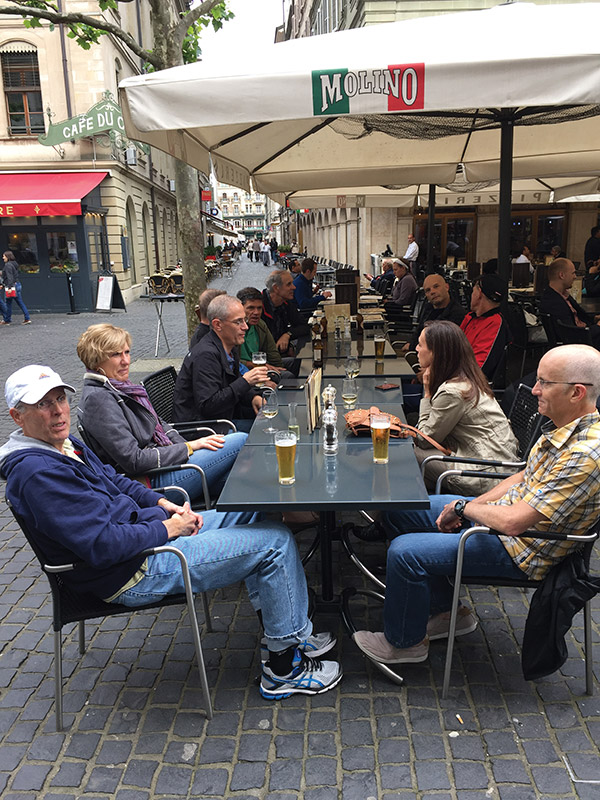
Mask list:
[[[246,433],[229,433],[220,450],[195,450],[189,457],[190,464],[197,464],[204,470],[211,495],[217,495],[223,488],[229,470],[247,438]],[[181,486],[192,501],[203,497],[202,478],[195,469],[164,472],[154,475],[150,482],[152,486]]]

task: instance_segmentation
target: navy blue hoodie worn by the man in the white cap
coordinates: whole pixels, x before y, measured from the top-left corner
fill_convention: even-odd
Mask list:
[[[49,564],[84,562],[63,573],[73,589],[114,595],[144,561],[138,554],[167,542],[160,495],[103,464],[77,439],[85,463],[22,431],[0,448],[6,496]]]

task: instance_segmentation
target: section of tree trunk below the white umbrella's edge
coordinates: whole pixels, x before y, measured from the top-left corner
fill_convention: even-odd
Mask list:
[[[191,336],[198,324],[194,306],[198,302],[200,292],[206,289],[206,273],[198,173],[183,161],[175,161],[175,195],[177,197],[177,225],[182,248],[185,314],[188,334]]]

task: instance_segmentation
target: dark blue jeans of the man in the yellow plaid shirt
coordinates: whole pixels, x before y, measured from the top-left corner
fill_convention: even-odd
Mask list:
[[[392,540],[387,554],[383,631],[394,647],[421,642],[430,616],[449,611],[461,532],[440,533],[435,521],[446,503],[458,495],[430,495],[423,511],[389,511],[382,522]],[[472,500],[473,498],[461,498]],[[467,525],[470,527],[470,523]],[[497,536],[476,533],[468,540],[464,575],[524,578]]]

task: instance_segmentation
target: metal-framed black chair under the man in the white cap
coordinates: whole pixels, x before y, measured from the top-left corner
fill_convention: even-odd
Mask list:
[[[95,595],[84,594],[71,589],[62,576],[63,574],[77,570],[78,564],[48,564],[46,556],[36,542],[35,537],[29,530],[25,520],[15,511],[14,508],[12,508],[12,506],[10,506],[10,503],[8,503],[8,505],[19,527],[23,531],[25,538],[29,542],[31,549],[40,562],[40,566],[48,579],[50,591],[52,593],[52,628],[54,630],[54,702],[56,730],[60,731],[63,729],[62,629],[65,625],[68,625],[71,622],[79,623],[79,653],[80,655],[83,655],[85,653],[85,620],[97,619],[99,617],[112,617],[116,614],[131,614],[135,611],[144,611],[147,609],[163,608],[164,606],[183,604],[187,605],[190,624],[192,626],[192,636],[194,639],[194,645],[196,647],[196,656],[198,658],[198,671],[200,673],[200,684],[202,687],[202,694],[204,696],[206,716],[208,719],[212,719],[212,702],[210,699],[208,678],[206,676],[206,667],[204,665],[202,643],[200,641],[200,629],[198,627],[198,619],[196,617],[196,608],[194,605],[194,594],[192,592],[190,572],[185,555],[172,545],[152,547],[148,548],[147,550],[143,550],[140,553],[140,556],[146,557],[156,553],[173,553],[175,556],[177,556],[180,562],[181,571],[183,573],[185,594],[170,595],[158,602],[147,603],[136,608],[130,608],[129,606],[123,606],[118,603],[106,603],[104,600],[101,600]],[[204,621],[206,624],[206,629],[207,631],[212,631],[208,601],[204,592],[202,592],[202,604],[204,608]]]

